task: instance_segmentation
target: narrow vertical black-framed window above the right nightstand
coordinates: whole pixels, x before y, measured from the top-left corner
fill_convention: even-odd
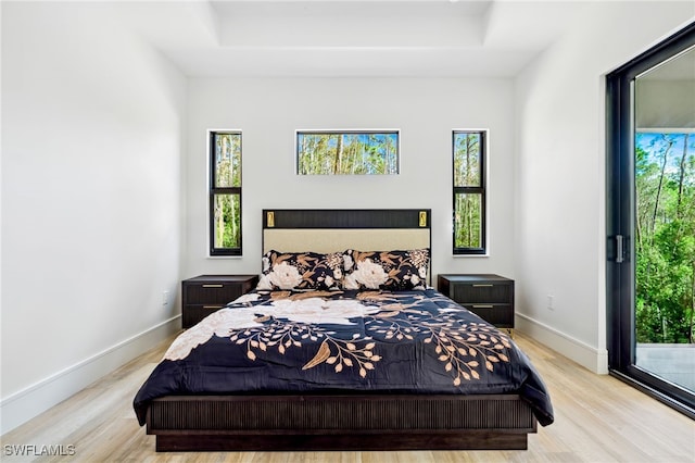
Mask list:
[[[485,133],[454,130],[454,254],[484,254]]]

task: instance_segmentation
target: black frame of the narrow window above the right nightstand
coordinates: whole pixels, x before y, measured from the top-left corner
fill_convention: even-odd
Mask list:
[[[456,134],[480,135],[480,186],[457,187],[455,185]],[[456,247],[456,196],[480,195],[480,247]],[[488,255],[488,129],[453,129],[452,130],[452,253],[455,256],[486,256]]]

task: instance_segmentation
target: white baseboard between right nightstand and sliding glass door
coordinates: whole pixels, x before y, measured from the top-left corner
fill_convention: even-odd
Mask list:
[[[522,313],[516,313],[515,329],[599,375],[608,374],[608,351],[572,338]]]

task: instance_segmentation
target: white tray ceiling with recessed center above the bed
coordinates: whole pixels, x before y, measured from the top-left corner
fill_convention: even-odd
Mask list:
[[[187,76],[515,76],[586,1],[121,2]]]

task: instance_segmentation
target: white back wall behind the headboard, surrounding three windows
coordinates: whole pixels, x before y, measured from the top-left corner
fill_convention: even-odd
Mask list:
[[[184,277],[261,272],[264,208],[431,208],[432,272],[514,271],[509,79],[195,78],[189,84]],[[241,129],[243,256],[207,258],[207,129]],[[298,176],[294,130],[397,128],[401,174]],[[488,128],[489,258],[452,258],[452,129]]]

